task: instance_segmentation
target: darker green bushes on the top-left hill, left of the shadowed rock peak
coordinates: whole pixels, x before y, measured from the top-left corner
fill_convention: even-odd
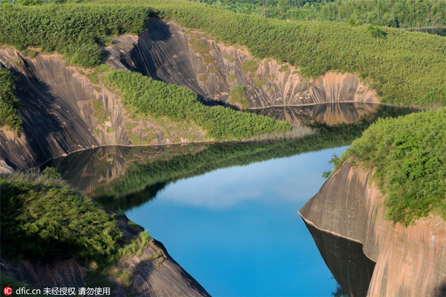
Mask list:
[[[111,35],[139,34],[153,10],[120,1],[105,3],[12,4],[1,9],[1,44],[19,50],[38,47],[57,51],[73,64],[92,67],[101,62],[101,46]]]

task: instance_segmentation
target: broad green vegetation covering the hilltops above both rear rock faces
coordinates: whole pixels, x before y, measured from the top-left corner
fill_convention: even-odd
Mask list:
[[[100,47],[110,44],[111,35],[139,34],[149,17],[158,16],[246,46],[258,58],[298,66],[306,77],[355,73],[383,103],[446,104],[446,39],[441,36],[379,26],[368,30],[361,21],[284,21],[181,0],[10,4],[0,16],[1,44],[61,52],[86,67],[100,63]]]

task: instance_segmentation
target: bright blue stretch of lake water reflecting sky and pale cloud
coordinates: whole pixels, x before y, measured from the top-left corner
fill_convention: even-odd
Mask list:
[[[126,215],[212,296],[332,296],[336,281],[298,210],[345,148],[179,180]]]

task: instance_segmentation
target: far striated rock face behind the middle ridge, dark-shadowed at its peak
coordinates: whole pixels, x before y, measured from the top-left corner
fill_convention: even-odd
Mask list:
[[[133,42],[135,47],[130,51],[122,48],[114,52],[118,55],[111,53],[111,65],[187,87],[210,103],[231,104],[229,92],[236,85],[245,87],[250,107],[378,102],[375,91],[353,74],[327,73],[305,80],[297,68],[280,65],[273,59],[259,61],[246,49],[225,46],[206,34],[186,31],[156,18]],[[247,61],[253,61],[252,67],[244,67]]]

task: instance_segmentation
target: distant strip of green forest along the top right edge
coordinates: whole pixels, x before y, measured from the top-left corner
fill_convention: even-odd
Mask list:
[[[395,28],[446,26],[443,0],[197,0],[212,6],[268,18],[348,22]]]

